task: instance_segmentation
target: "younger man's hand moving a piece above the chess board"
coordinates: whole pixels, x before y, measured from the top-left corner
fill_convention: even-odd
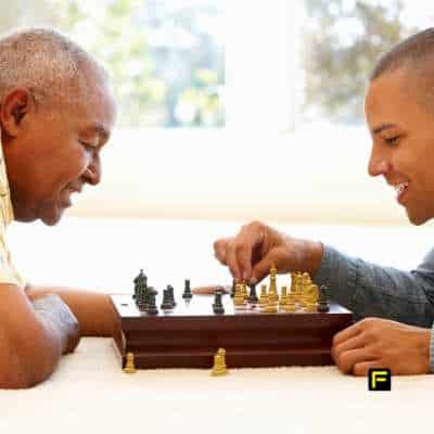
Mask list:
[[[268,276],[271,264],[278,272],[312,275],[321,263],[323,247],[321,243],[295,239],[253,221],[244,225],[235,237],[217,240],[214,252],[237,282],[257,283]]]

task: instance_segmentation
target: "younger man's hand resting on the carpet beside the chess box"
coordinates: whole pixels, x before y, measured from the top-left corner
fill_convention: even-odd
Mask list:
[[[334,335],[332,357],[343,373],[354,375],[367,375],[370,368],[388,368],[395,375],[429,373],[430,339],[430,329],[365,318]]]

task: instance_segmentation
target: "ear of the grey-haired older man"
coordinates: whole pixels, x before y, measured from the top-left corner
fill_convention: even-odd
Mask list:
[[[0,120],[3,131],[10,137],[18,136],[23,128],[23,119],[35,108],[35,101],[28,89],[13,89],[4,97],[0,106]]]

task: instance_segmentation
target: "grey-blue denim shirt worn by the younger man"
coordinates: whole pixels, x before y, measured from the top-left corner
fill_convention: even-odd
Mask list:
[[[330,298],[352,310],[356,320],[379,317],[433,330],[434,248],[416,270],[403,271],[324,245],[322,261],[312,280],[318,285],[327,284]],[[434,372],[433,336],[432,331],[431,372]]]

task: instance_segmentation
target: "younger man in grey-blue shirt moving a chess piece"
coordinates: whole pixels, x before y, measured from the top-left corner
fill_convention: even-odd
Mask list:
[[[366,97],[372,136],[369,174],[383,176],[409,220],[434,217],[434,28],[385,54]],[[349,144],[348,144],[349,145]],[[320,242],[294,239],[261,224],[216,241],[216,257],[237,280],[257,282],[275,263],[280,272],[306,270],[358,319],[337,333],[332,355],[345,373],[369,368],[395,374],[434,371],[434,250],[406,272],[348,257]]]

